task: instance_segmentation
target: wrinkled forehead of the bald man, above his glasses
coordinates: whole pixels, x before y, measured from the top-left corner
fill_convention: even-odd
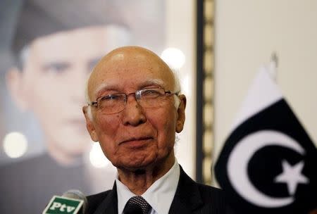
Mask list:
[[[117,53],[106,56],[94,68],[89,79],[89,97],[94,99],[101,90],[133,92],[144,87],[173,90],[172,71],[161,58],[147,53]]]

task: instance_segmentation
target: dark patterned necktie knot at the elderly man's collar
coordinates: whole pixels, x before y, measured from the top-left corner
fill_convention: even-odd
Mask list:
[[[123,210],[123,214],[148,214],[151,206],[141,196],[133,196]]]

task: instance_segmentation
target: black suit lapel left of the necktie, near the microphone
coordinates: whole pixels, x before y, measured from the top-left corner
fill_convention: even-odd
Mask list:
[[[118,214],[118,196],[116,182],[113,189],[98,206],[94,214]]]

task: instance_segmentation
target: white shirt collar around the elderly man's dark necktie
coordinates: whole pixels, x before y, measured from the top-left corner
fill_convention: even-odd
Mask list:
[[[142,194],[142,197],[152,207],[151,213],[168,213],[178,187],[179,179],[180,165],[178,165],[178,161],[175,159],[172,168],[170,168],[170,170],[168,170],[168,172],[166,172],[166,174],[159,180],[156,180],[156,182]],[[125,208],[125,203],[127,203],[132,196],[135,196],[135,194],[132,193],[125,184],[118,180],[118,175],[116,177],[116,186],[118,193],[118,213],[121,214]]]

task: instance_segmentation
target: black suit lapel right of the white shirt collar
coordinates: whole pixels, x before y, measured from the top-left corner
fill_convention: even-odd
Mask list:
[[[182,170],[169,214],[192,213],[203,204],[197,184]]]

